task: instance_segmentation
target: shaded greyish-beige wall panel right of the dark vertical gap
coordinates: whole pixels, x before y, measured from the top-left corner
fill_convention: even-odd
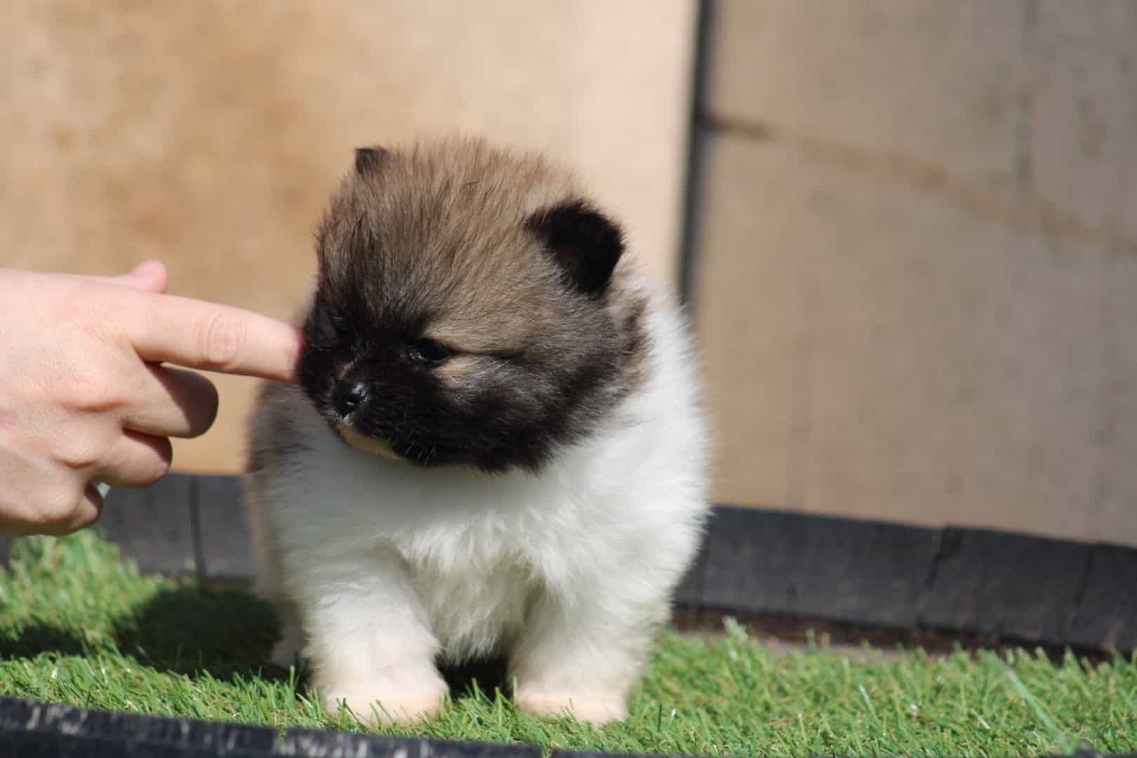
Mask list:
[[[1137,544],[1137,5],[714,5],[716,495]]]

